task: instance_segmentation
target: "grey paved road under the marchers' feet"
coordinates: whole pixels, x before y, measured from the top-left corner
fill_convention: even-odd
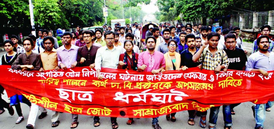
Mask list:
[[[246,50],[251,50],[251,45],[249,43],[245,43],[244,46],[246,46]],[[2,54],[2,53],[0,53]],[[1,55],[2,56],[2,55]],[[7,102],[7,95],[2,95],[2,98],[4,98]],[[251,102],[245,102],[240,104],[239,106],[235,107],[236,114],[232,116],[233,119],[233,128],[234,129],[253,129],[255,125],[255,120],[252,114],[251,106],[253,103]],[[10,116],[6,110],[3,114],[0,115],[0,129],[23,129],[26,128],[27,125],[27,119],[28,119],[28,113],[29,113],[29,107],[26,104],[21,104],[22,110],[23,110],[23,116],[25,117],[25,120],[21,122],[20,124],[15,124],[15,121],[18,118],[18,115],[15,114],[13,116]],[[38,112],[38,115],[40,112]],[[51,111],[48,111],[48,114],[44,119],[38,119],[36,120],[35,129],[50,129],[51,122],[50,122],[50,114]],[[38,117],[38,116],[37,116]],[[209,112],[207,115],[207,120],[209,117]],[[265,120],[265,129],[273,129],[273,117],[274,117],[274,109],[271,112],[266,112],[266,120]],[[188,120],[188,112],[178,112],[176,114],[177,121],[171,122],[167,121],[165,119],[165,116],[159,117],[159,124],[163,129],[201,129],[199,126],[199,117],[195,118],[195,125],[191,126],[187,124]],[[111,129],[110,124],[110,118],[109,117],[100,117],[101,125],[99,127],[96,127],[96,129]],[[71,123],[71,114],[62,113],[60,115],[59,120],[61,121],[60,125],[56,127],[55,129],[68,129],[70,127]],[[151,118],[142,118],[142,119],[134,119],[135,124],[133,125],[126,125],[127,118],[118,118],[118,124],[119,129],[153,129],[151,126]],[[88,129],[88,128],[95,128],[93,127],[93,117],[92,116],[85,116],[85,115],[79,115],[79,125],[78,129]],[[208,126],[208,122],[207,122]],[[222,109],[220,109],[218,121],[217,121],[217,129],[223,129],[224,127],[224,121],[223,121],[223,113]],[[208,127],[207,127],[208,128]]]

